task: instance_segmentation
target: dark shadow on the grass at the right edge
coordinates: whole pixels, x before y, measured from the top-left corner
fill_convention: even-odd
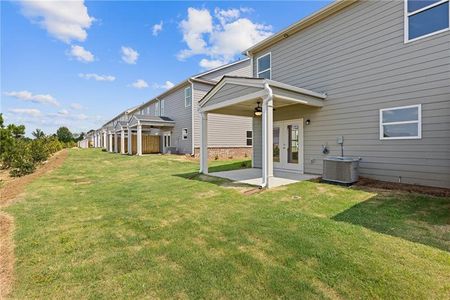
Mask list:
[[[448,197],[381,192],[332,219],[450,252]]]

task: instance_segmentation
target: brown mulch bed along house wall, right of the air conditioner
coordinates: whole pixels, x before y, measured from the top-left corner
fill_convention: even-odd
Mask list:
[[[397,183],[397,182],[386,182],[374,179],[369,179],[361,177],[359,181],[354,185],[356,187],[369,187],[375,189],[384,190],[394,190],[394,191],[404,191],[410,193],[426,194],[437,197],[450,197],[450,189],[422,186],[415,184]]]

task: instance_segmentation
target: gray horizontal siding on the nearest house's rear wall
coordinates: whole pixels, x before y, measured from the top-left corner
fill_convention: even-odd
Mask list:
[[[405,44],[403,5],[357,2],[254,55],[272,53],[273,80],[328,94],[323,108],[274,113],[311,120],[305,172],[321,174],[321,146],[340,155],[342,135],[363,176],[450,187],[450,31]],[[379,109],[414,104],[422,104],[422,139],[380,140]]]

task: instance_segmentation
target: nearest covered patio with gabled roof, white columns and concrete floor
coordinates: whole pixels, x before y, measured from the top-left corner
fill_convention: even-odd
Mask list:
[[[265,188],[317,177],[304,172],[301,111],[320,109],[325,99],[270,79],[224,76],[199,104],[200,172],[208,174],[208,114],[214,113],[253,117],[253,157],[252,169],[211,175]]]

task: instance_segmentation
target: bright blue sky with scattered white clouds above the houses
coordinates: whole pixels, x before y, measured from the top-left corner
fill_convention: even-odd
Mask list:
[[[1,111],[28,135],[98,128],[328,3],[2,1]]]

